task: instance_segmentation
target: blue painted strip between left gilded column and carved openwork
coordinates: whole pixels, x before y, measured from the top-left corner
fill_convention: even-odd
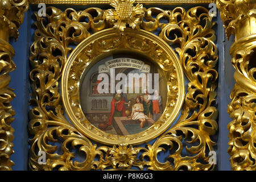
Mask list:
[[[13,170],[27,170],[28,160],[28,96],[30,84],[28,82],[28,48],[30,47],[30,12],[24,16],[24,23],[20,26],[19,39],[17,42],[11,40],[11,45],[15,49],[14,62],[16,70],[10,73],[11,82],[10,87],[15,89],[14,98],[11,104],[14,107],[16,115],[15,120],[11,124],[14,127],[14,151],[15,154],[11,155],[11,160],[15,163]]]

